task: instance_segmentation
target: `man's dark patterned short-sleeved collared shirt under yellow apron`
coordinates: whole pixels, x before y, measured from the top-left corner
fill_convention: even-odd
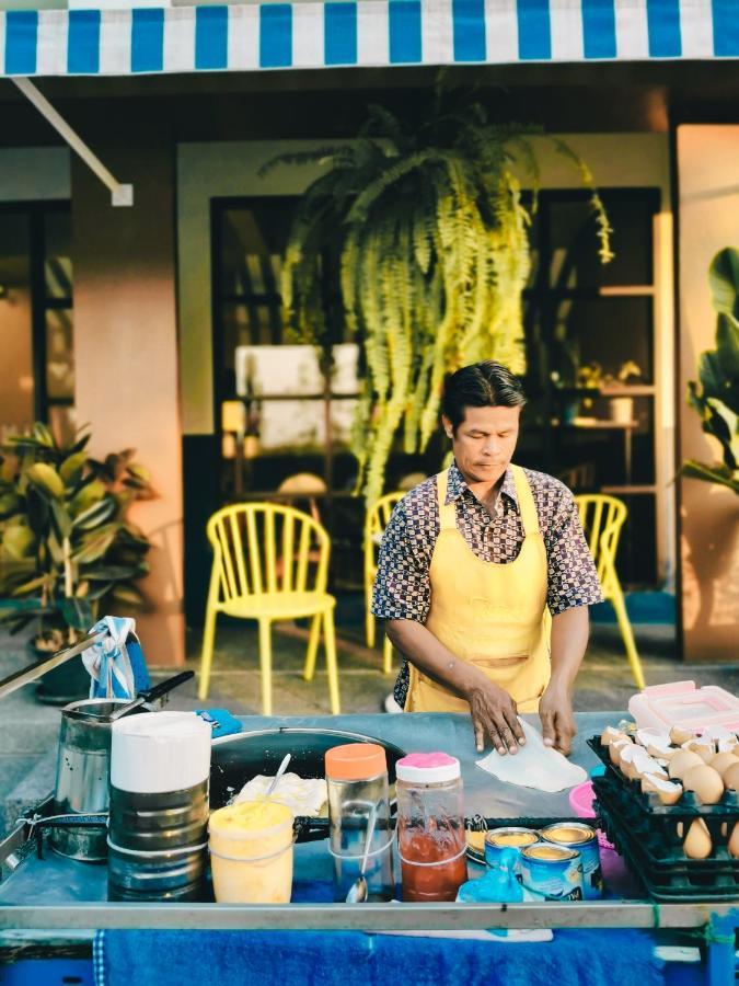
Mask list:
[[[552,615],[603,598],[573,494],[559,480],[524,469],[533,494],[547,563],[546,605]],[[446,503],[455,503],[457,529],[477,558],[507,564],[518,558],[523,527],[513,473],[506,470],[493,514],[467,486],[455,463],[449,470]],[[382,536],[372,612],[383,620],[426,622],[431,605],[429,569],[441,529],[436,477],[406,494],[395,506]],[[395,699],[403,706],[408,666],[403,663]]]

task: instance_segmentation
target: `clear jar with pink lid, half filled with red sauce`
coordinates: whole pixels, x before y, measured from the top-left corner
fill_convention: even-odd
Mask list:
[[[409,754],[395,765],[404,901],[454,901],[467,879],[460,761]]]

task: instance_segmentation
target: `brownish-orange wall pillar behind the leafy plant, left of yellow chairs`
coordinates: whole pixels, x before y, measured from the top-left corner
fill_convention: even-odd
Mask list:
[[[150,664],[184,660],[172,147],[153,129],[134,146],[96,144],[116,177],[134,184],[132,208],[113,208],[85,165],[72,167],[78,421],[92,425],[94,455],[136,448],[159,493],[131,511],[153,542],[141,583],[152,611],[137,618]]]

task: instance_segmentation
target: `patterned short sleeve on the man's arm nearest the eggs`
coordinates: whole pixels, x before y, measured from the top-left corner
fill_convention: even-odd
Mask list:
[[[592,606],[603,600],[577,504],[569,490],[559,485],[558,503],[544,538],[549,565],[546,604],[553,616],[573,606]]]

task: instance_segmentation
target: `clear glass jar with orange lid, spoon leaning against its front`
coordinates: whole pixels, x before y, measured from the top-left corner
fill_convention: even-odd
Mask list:
[[[347,743],[327,750],[325,763],[335,899],[346,901],[359,876],[372,827],[365,867],[367,899],[391,901],[395,883],[385,752],[374,743]]]

